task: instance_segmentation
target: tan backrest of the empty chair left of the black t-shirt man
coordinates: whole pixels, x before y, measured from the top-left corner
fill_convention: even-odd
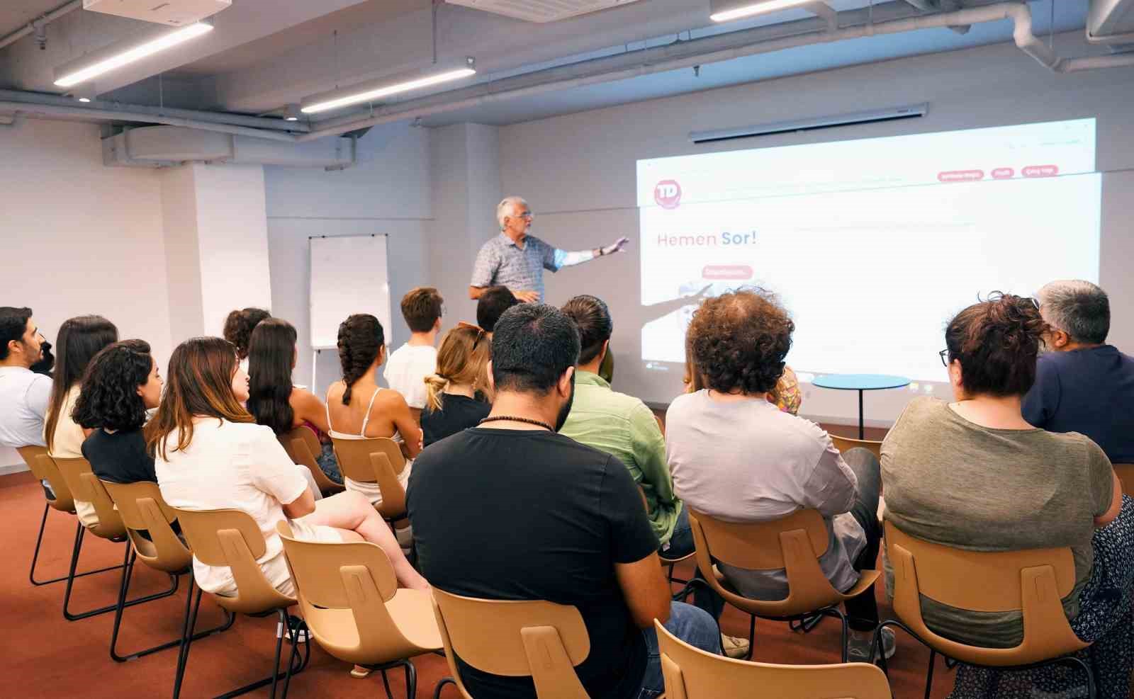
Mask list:
[[[398,579],[386,552],[367,542],[296,539],[286,521],[278,522],[276,530],[284,542],[307,628],[316,639],[331,641],[332,655],[335,648],[344,647],[352,655],[373,658],[416,655],[416,647],[386,606],[398,593]],[[355,628],[344,628],[341,616],[328,615],[325,610],[350,610]]]

